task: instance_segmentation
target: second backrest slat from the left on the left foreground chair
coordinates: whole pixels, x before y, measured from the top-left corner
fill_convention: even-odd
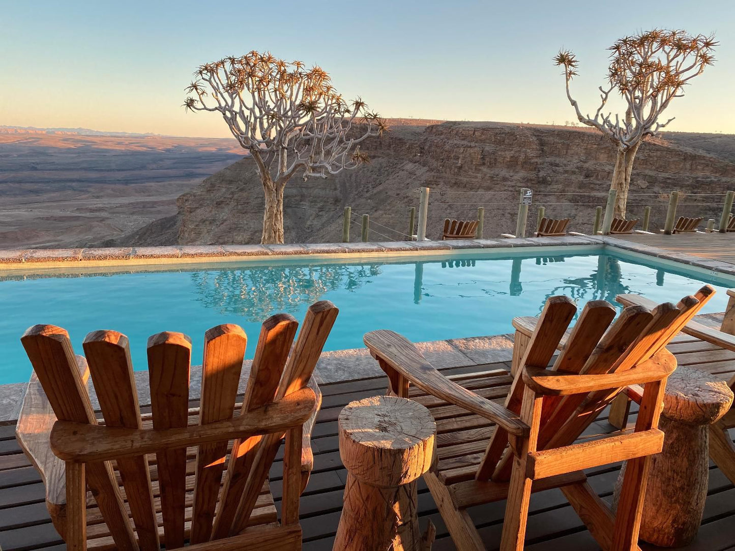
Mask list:
[[[83,343],[90,376],[108,427],[143,428],[128,338],[117,331],[93,331]],[[118,458],[141,551],[159,549],[158,523],[146,455]]]

